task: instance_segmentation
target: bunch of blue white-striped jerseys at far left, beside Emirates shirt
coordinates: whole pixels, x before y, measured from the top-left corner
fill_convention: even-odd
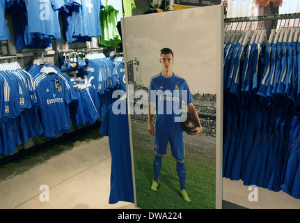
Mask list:
[[[0,64],[0,70],[0,153],[8,155],[43,130],[33,77],[17,63]]]

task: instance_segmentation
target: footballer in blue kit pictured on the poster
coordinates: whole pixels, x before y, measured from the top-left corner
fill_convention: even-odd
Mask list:
[[[174,63],[172,50],[169,48],[161,49],[159,61],[162,71],[150,80],[150,98],[148,102],[148,130],[155,137],[154,176],[151,189],[157,191],[161,158],[166,154],[167,145],[170,143],[172,156],[176,160],[180,193],[185,201],[190,202],[191,200],[185,188],[184,139],[180,121],[185,121],[186,116],[181,112],[182,103],[187,105],[189,113],[198,123],[198,127],[191,130],[189,134],[199,134],[202,126],[193,105],[194,100],[191,97],[187,82],[172,71]],[[155,105],[156,111],[154,110]],[[153,114],[156,114],[155,126],[152,124]]]

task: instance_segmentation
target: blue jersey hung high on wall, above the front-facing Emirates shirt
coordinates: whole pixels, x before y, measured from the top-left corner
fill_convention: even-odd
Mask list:
[[[17,49],[47,48],[52,40],[61,38],[58,9],[63,0],[10,0],[8,10],[13,15]]]

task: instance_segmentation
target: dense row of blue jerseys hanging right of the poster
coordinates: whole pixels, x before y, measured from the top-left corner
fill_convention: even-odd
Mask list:
[[[300,32],[262,33],[226,34],[223,177],[300,199]]]

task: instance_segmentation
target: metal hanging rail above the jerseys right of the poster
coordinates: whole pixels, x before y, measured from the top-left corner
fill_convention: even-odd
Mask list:
[[[224,23],[232,22],[255,22],[255,21],[267,21],[267,20],[290,20],[290,19],[299,19],[300,13],[294,14],[280,14],[280,15],[258,15],[253,17],[234,17],[224,19]]]

